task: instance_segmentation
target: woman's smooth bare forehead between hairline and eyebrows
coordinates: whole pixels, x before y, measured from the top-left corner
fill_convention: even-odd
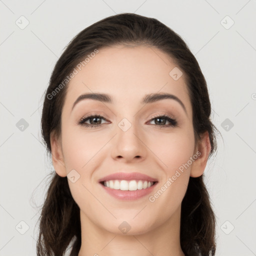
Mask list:
[[[98,49],[88,59],[75,67],[77,73],[67,87],[67,104],[87,92],[110,94],[116,104],[140,103],[145,94],[167,92],[179,97],[188,111],[191,108],[184,75],[173,79],[171,70],[178,67],[158,48],[114,45]]]

